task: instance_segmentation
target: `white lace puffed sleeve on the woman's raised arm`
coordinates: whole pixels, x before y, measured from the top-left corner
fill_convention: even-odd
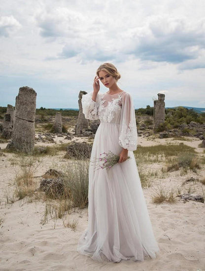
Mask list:
[[[96,102],[92,100],[93,92],[88,92],[82,96],[82,109],[85,118],[87,119],[98,119],[98,106],[100,94],[97,94]]]

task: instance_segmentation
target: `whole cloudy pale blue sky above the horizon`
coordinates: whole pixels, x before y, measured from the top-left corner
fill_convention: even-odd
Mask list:
[[[78,108],[105,62],[135,108],[205,108],[205,0],[1,1],[0,106],[29,86],[36,108]]]

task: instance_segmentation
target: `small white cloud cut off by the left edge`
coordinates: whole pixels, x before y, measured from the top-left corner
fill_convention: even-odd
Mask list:
[[[0,18],[0,36],[9,37],[9,35],[17,31],[21,24],[11,15],[2,16]]]

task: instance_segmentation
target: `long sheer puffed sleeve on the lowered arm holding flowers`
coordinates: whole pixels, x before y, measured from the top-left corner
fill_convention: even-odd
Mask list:
[[[119,145],[124,149],[128,149],[128,151],[137,149],[135,108],[132,97],[127,92],[122,96]]]

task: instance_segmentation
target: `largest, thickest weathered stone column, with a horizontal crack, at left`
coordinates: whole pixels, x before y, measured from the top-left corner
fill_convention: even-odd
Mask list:
[[[11,143],[7,149],[30,153],[34,150],[36,92],[33,88],[19,88],[16,97],[15,120]]]

